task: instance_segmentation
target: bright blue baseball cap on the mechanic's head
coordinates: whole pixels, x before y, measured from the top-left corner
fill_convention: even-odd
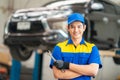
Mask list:
[[[68,16],[68,25],[74,21],[80,21],[82,23],[85,23],[84,16],[80,13],[73,13]]]

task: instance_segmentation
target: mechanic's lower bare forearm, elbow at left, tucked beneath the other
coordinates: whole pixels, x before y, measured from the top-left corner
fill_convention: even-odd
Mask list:
[[[55,78],[59,78],[59,79],[72,79],[81,76],[80,74],[67,69],[64,72],[62,72],[61,70],[57,69],[54,66],[53,66],[53,73]]]

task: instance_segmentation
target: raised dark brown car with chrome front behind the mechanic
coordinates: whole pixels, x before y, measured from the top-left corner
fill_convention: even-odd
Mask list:
[[[108,0],[65,0],[50,2],[41,8],[17,10],[6,23],[4,43],[13,58],[27,60],[34,50],[52,49],[57,42],[67,39],[67,16],[80,12],[86,20],[87,41],[94,42],[101,50],[118,48],[119,8]]]

